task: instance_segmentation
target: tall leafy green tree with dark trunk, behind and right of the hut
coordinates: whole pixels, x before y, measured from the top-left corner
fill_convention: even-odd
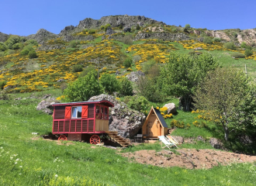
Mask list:
[[[161,67],[161,75],[158,78],[161,91],[165,95],[180,97],[183,110],[190,111],[196,86],[218,65],[209,53],[202,53],[198,57],[171,53],[168,63]]]

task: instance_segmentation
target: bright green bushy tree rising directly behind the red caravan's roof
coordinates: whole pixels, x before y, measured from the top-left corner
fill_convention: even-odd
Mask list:
[[[93,95],[102,94],[102,86],[99,84],[93,71],[85,77],[78,77],[76,81],[67,85],[64,90],[64,102],[83,102]]]

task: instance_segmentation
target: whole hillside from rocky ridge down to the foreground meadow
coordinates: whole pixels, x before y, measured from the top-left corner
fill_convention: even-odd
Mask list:
[[[195,29],[130,15],[87,18],[78,26],[66,26],[59,34],[46,29],[29,36],[0,33],[0,184],[254,185],[255,127],[248,125],[236,130],[232,126],[230,133],[234,133],[225,142],[221,117],[214,120],[216,115],[199,109],[185,112],[178,107],[180,96],[161,95],[154,85],[160,69],[178,54],[188,54],[185,57],[194,64],[199,64],[199,57],[211,57],[213,65],[220,63],[228,71],[244,72],[246,67],[253,82],[255,36],[256,29]],[[163,150],[159,141],[145,140],[126,149],[111,149],[47,139],[45,136],[52,136],[53,118],[36,110],[36,106],[43,100],[61,102],[68,84],[81,76],[85,80],[92,77],[99,86],[93,78],[98,69],[100,84],[106,74],[112,74],[115,81],[111,81],[116,84],[126,82],[123,87],[131,84],[128,96],[119,90],[109,93],[114,95],[112,102],[116,105],[109,109],[109,121],[114,121],[116,127],[111,130],[129,133],[132,128],[139,128],[137,120],[142,121],[153,105],[160,108],[171,135],[182,144],[177,149]],[[91,76],[85,75],[88,71]],[[150,81],[137,84],[137,77],[130,77],[136,73]],[[127,76],[130,81],[123,78]],[[171,84],[170,81],[176,82],[168,79],[165,84]],[[147,91],[154,101],[140,96],[138,87],[145,82],[153,84],[146,87],[150,87]],[[82,83],[80,88],[85,89],[92,82]],[[168,114],[168,108],[161,108],[167,103],[175,103],[177,112]],[[250,109],[250,103],[246,103]],[[248,115],[254,119],[253,116]],[[137,130],[131,136],[130,133],[133,138]]]

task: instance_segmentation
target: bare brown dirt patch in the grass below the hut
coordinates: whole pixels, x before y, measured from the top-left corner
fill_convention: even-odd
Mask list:
[[[119,153],[130,161],[140,164],[151,164],[159,167],[184,167],[188,169],[209,169],[218,164],[244,163],[256,161],[256,156],[229,153],[220,150],[178,149],[178,153],[170,150],[140,150],[134,153]]]

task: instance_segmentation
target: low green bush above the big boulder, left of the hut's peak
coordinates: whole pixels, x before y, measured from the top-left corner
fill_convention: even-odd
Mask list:
[[[149,107],[149,102],[144,96],[126,96],[124,102],[126,102],[130,108],[140,112],[145,112]]]

